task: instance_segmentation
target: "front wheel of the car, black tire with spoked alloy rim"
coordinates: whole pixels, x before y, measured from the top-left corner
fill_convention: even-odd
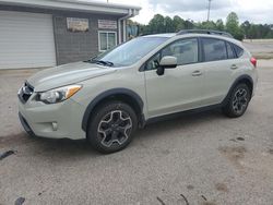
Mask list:
[[[126,148],[138,126],[134,110],[122,101],[109,101],[94,110],[87,141],[94,149],[110,154]]]

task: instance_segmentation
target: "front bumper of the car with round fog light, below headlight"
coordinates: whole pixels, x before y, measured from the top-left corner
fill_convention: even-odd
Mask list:
[[[48,138],[85,138],[82,130],[84,107],[73,99],[45,105],[32,98],[19,100],[19,118],[29,135]]]

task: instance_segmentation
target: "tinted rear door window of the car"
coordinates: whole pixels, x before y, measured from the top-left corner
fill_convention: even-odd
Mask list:
[[[213,38],[203,38],[202,43],[204,48],[204,61],[227,59],[225,41]]]

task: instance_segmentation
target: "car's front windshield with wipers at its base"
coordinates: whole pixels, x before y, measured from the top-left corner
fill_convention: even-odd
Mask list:
[[[99,55],[92,59],[92,62],[112,67],[131,65],[167,39],[166,37],[138,37]]]

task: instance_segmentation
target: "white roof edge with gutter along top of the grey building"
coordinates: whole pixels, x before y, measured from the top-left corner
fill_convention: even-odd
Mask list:
[[[130,14],[130,17],[138,15],[141,10],[140,7],[134,5],[103,3],[86,0],[0,0],[0,4],[91,13],[110,13],[117,15]]]

